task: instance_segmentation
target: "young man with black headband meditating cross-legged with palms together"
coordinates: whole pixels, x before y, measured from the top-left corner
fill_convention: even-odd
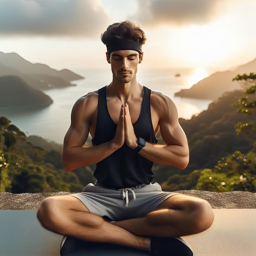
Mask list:
[[[47,229],[82,240],[151,250],[152,255],[193,255],[179,236],[211,226],[209,203],[151,184],[153,162],[180,169],[189,162],[175,104],[137,82],[146,41],[138,25],[110,25],[101,40],[112,82],[75,103],[63,147],[65,169],[97,164],[97,182],[82,193],[43,200],[38,219]],[[157,144],[159,129],[165,145]],[[84,146],[89,132],[93,146]]]

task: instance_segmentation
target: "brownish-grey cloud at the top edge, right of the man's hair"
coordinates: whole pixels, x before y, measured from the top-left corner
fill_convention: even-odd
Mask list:
[[[129,19],[148,26],[204,24],[214,20],[220,12],[225,10],[225,4],[228,1],[137,0],[138,12]]]

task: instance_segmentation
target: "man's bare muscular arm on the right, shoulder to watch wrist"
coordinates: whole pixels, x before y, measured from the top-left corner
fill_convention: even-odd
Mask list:
[[[159,118],[161,135],[166,145],[146,142],[146,146],[139,151],[139,154],[158,164],[172,165],[180,169],[186,168],[189,163],[189,146],[186,135],[179,124],[175,104],[163,94],[154,93],[151,96],[151,111],[152,108]],[[129,120],[129,114],[128,119],[125,118],[125,120]],[[126,143],[131,148],[137,146],[137,141],[134,139],[128,141],[126,138]]]

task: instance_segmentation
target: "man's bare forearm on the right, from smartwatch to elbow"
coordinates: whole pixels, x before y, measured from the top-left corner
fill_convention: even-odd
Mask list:
[[[146,142],[139,154],[157,164],[166,164],[180,169],[189,163],[189,149],[179,145],[159,145]]]

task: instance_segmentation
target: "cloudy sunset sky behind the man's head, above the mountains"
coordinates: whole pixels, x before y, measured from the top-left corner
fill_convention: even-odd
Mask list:
[[[205,75],[256,58],[255,13],[255,0],[0,0],[0,52],[57,70],[108,68],[101,33],[131,20],[147,37],[143,68]]]

